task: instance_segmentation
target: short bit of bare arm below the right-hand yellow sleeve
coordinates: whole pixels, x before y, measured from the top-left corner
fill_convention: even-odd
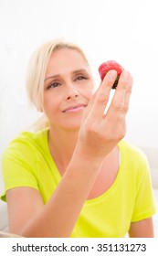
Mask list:
[[[153,238],[153,218],[133,222],[129,235],[131,238]]]

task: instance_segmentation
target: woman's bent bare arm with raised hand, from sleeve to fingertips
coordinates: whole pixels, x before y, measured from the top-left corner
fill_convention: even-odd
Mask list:
[[[32,192],[27,190],[30,193],[29,197],[32,197],[31,204],[26,190],[23,190],[26,192],[24,197],[19,196],[16,199],[16,192],[21,193],[24,187],[7,192],[10,225],[13,227],[13,232],[17,230],[25,237],[70,236],[79,212],[100,172],[103,160],[124,137],[126,131],[125,115],[132,91],[132,77],[128,72],[121,73],[118,89],[108,112],[104,114],[116,75],[116,71],[110,71],[92,97],[83,116],[75,152],[57,190],[46,206],[42,205],[41,197],[34,189],[31,190]],[[15,205],[11,203],[13,198]],[[37,206],[34,206],[34,200],[37,200]],[[19,204],[21,209],[22,205],[26,204],[26,212],[17,210]],[[16,221],[13,218],[15,213]],[[18,219],[21,219],[23,214],[25,217],[21,222]]]

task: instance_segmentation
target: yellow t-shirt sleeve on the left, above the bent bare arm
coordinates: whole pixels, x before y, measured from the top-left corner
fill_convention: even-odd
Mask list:
[[[33,187],[38,190],[36,155],[28,144],[15,141],[9,144],[2,155],[2,175],[4,179],[4,193],[2,200],[6,200],[5,192],[14,187]]]

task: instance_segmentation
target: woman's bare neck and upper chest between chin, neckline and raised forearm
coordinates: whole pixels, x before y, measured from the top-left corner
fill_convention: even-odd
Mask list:
[[[48,133],[48,145],[50,153],[60,172],[64,172],[74,153],[79,130],[63,130],[50,127]]]

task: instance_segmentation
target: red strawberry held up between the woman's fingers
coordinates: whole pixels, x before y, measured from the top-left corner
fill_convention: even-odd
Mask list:
[[[119,77],[121,75],[121,72],[124,70],[121,65],[119,63],[117,63],[116,61],[114,60],[109,60],[107,62],[103,62],[100,67],[99,67],[99,73],[100,73],[100,79],[103,80],[106,73],[111,70],[111,69],[114,69],[118,72],[118,76],[112,86],[112,89],[116,89],[117,85],[118,85],[118,80],[119,80]]]

